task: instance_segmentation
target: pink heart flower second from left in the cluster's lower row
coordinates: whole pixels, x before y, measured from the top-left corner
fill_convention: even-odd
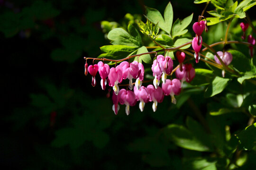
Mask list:
[[[127,115],[130,114],[130,106],[134,106],[137,102],[135,94],[130,90],[121,89],[119,94],[119,103],[125,104],[125,112]]]

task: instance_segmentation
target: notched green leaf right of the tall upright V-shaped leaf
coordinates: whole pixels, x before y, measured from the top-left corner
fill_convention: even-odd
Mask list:
[[[180,21],[180,19],[178,18],[174,22],[174,26],[173,26],[173,29],[172,29],[173,38],[175,36],[180,36],[180,35],[186,34],[188,32],[188,30],[185,29],[185,28],[191,23],[192,18],[193,18],[193,13],[190,16],[185,17],[182,21]]]

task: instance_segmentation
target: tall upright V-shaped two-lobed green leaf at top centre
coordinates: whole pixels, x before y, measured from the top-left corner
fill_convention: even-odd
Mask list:
[[[174,17],[171,2],[169,2],[165,8],[164,17],[165,19],[157,9],[146,7],[146,18],[154,24],[159,23],[159,27],[166,33],[170,34]]]

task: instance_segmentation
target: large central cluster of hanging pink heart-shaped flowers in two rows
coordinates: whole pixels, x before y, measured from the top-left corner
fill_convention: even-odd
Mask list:
[[[110,68],[108,64],[104,64],[102,61],[98,64],[90,65],[85,64],[85,75],[88,72],[92,76],[91,85],[96,85],[96,74],[99,72],[101,76],[101,88],[105,90],[108,84],[113,88],[113,111],[115,114],[119,111],[119,104],[126,105],[126,114],[129,115],[129,107],[136,105],[139,101],[139,109],[144,110],[147,102],[153,102],[152,109],[156,111],[157,103],[164,100],[165,95],[170,95],[172,102],[176,103],[174,95],[179,95],[184,81],[191,82],[195,76],[195,69],[192,68],[191,64],[183,64],[185,59],[185,53],[177,51],[177,59],[180,63],[176,71],[173,70],[173,60],[169,56],[158,55],[152,64],[153,80],[154,85],[143,86],[144,80],[144,66],[142,63],[133,61],[131,63],[122,61],[118,66]],[[172,75],[175,71],[176,78],[167,79],[167,76]],[[120,89],[119,83],[123,80],[129,80],[129,90]],[[136,82],[133,83],[133,79]],[[162,80],[162,87],[160,87],[160,81]],[[133,87],[135,84],[135,87]],[[133,91],[132,91],[133,90]]]

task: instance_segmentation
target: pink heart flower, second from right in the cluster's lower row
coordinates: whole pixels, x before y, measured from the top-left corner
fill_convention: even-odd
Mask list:
[[[146,87],[149,93],[149,101],[153,102],[152,108],[155,112],[157,109],[157,103],[163,102],[165,95],[161,87],[155,88],[153,85],[148,85]]]

